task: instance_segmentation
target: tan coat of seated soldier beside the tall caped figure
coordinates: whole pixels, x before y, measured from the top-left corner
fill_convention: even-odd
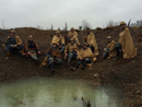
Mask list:
[[[109,57],[108,58],[111,58],[111,57],[115,57],[116,56],[116,50],[115,50],[115,40],[111,40],[108,45],[107,45],[107,48],[109,48]]]

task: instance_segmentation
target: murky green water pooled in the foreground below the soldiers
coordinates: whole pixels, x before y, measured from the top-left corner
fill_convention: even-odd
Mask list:
[[[122,93],[110,86],[35,78],[0,85],[0,107],[122,107]]]

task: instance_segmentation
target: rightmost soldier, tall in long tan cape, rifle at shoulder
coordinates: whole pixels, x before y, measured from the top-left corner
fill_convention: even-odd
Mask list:
[[[127,27],[126,22],[120,22],[121,33],[119,34],[119,40],[116,44],[117,58],[120,58],[122,54],[123,59],[132,59],[137,56],[137,48],[134,48],[134,44],[132,37],[130,35],[130,31]]]

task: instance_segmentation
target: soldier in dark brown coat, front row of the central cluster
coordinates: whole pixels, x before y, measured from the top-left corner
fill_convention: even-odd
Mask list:
[[[39,68],[48,66],[51,68],[51,73],[54,73],[54,64],[55,63],[62,63],[61,61],[61,52],[57,47],[57,43],[52,43],[52,47],[49,47],[46,50],[46,54],[49,54],[49,56],[46,56],[45,60],[42,62],[42,64],[39,66]]]

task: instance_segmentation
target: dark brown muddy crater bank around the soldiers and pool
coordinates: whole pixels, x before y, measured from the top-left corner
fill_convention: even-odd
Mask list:
[[[29,34],[39,44],[42,56],[40,62],[45,58],[44,51],[49,47],[50,40],[55,31],[40,31],[32,27],[15,28],[16,34],[24,41]],[[4,40],[10,34],[8,29],[0,31],[0,40]],[[120,33],[119,27],[97,28],[92,29],[96,36],[99,48],[99,56],[103,54],[104,47],[107,45],[106,37],[113,36],[114,40],[118,40]],[[4,60],[5,50],[0,47],[0,82],[11,82],[31,76],[51,76],[63,79],[80,79],[92,82],[92,85],[111,84],[115,87],[121,88],[126,93],[123,102],[128,107],[142,107],[142,27],[130,27],[131,36],[134,45],[138,48],[138,56],[131,60],[119,59],[117,61],[106,59],[102,62],[96,61],[92,67],[87,67],[84,71],[71,71],[66,63],[56,66],[54,75],[49,73],[49,68],[39,68],[33,60],[27,60],[25,57],[12,55],[9,60]],[[4,33],[4,34],[3,34]],[[79,39],[82,43],[83,32],[79,33]],[[64,32],[62,32],[64,34]],[[0,45],[2,45],[0,41]],[[98,57],[99,58],[99,57]],[[95,75],[94,75],[95,74]]]

